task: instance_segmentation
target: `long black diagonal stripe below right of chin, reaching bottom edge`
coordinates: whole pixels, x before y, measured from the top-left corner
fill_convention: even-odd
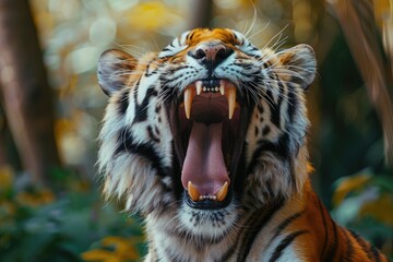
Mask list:
[[[249,226],[249,228],[246,231],[246,238],[242,241],[241,250],[240,250],[236,261],[238,261],[238,262],[246,261],[246,259],[251,250],[251,247],[255,241],[258,234],[260,234],[262,228],[270,222],[270,219],[273,217],[273,215],[283,207],[283,205],[284,205],[284,201],[279,201],[275,205],[264,209],[263,213],[262,213],[263,215],[260,217],[259,221],[257,221],[257,223],[254,225],[247,225],[247,226]],[[255,214],[255,215],[258,216],[259,214]]]

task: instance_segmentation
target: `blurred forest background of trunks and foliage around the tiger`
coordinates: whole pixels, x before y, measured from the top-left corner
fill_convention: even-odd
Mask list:
[[[259,47],[314,48],[314,187],[340,224],[392,258],[392,0],[2,0],[0,261],[136,261],[146,252],[141,219],[99,193],[107,97],[96,63],[108,48],[158,51],[194,26],[249,31]]]

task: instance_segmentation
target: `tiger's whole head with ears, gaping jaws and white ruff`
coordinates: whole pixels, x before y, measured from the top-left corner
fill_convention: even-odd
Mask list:
[[[314,74],[311,47],[258,49],[233,29],[186,32],[139,60],[104,52],[105,194],[156,225],[219,238],[245,210],[301,192]]]

